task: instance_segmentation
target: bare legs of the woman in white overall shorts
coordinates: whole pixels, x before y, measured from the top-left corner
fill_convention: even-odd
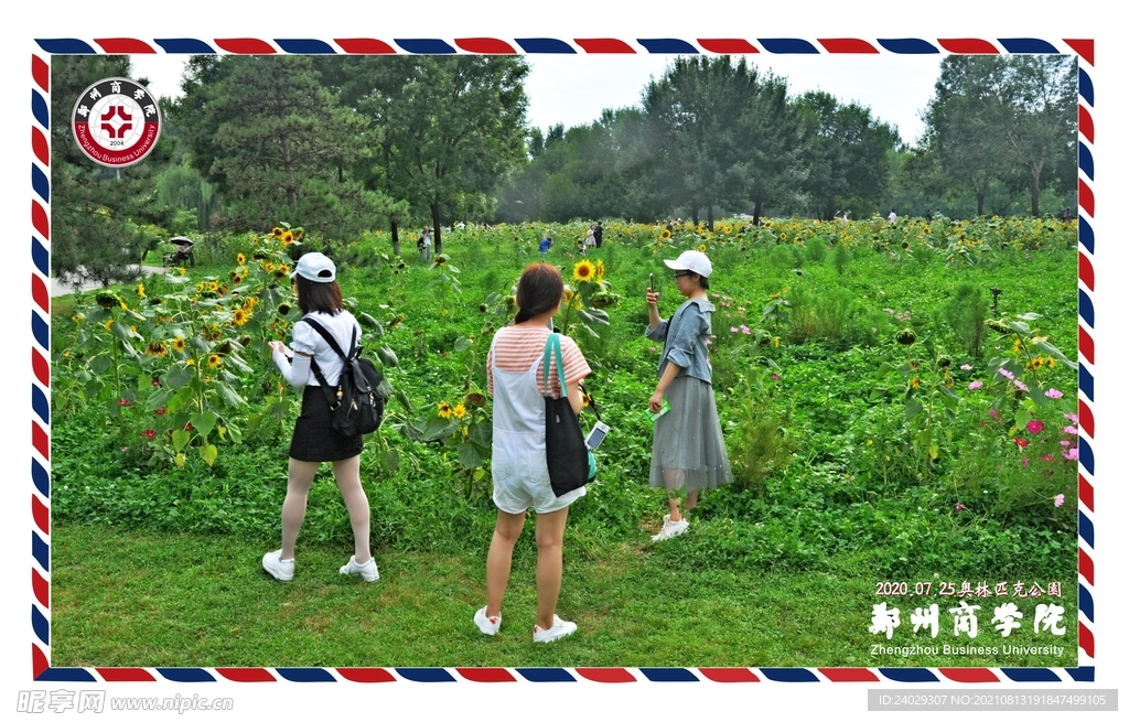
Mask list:
[[[537,625],[542,629],[553,626],[557,598],[561,591],[563,572],[564,525],[568,507],[559,511],[537,514],[534,535],[537,540]],[[511,514],[498,510],[487,555],[487,616],[501,615],[501,599],[509,583],[509,570],[514,558],[514,545],[522,536],[525,513]]]

